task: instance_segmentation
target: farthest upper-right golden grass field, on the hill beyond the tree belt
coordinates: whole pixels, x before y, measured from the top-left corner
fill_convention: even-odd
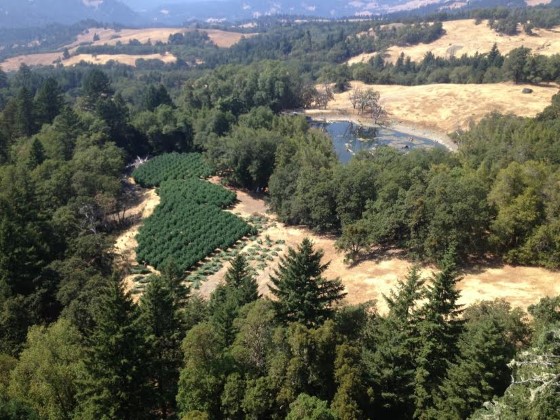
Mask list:
[[[418,44],[409,47],[391,47],[387,50],[386,59],[395,62],[403,52],[413,61],[422,60],[431,51],[438,57],[474,55],[486,53],[497,44],[502,54],[521,46],[531,48],[535,53],[552,55],[560,53],[560,27],[553,29],[535,29],[535,35],[529,36],[520,31],[519,35],[508,36],[499,34],[488,27],[486,21],[476,25],[474,20],[455,20],[443,22],[445,35],[430,44]],[[368,61],[375,54],[361,54],[353,57],[348,64]]]

